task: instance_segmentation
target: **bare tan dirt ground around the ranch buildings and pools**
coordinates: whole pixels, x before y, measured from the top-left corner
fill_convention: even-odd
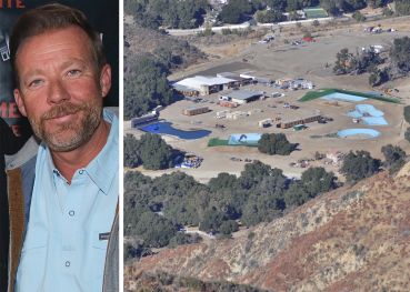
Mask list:
[[[388,48],[394,38],[410,36],[410,23],[408,19],[403,19],[404,23],[399,20],[378,21],[382,28],[394,28],[397,32],[383,32],[380,34],[370,34],[363,32],[363,29],[371,23],[353,24],[334,30],[319,31],[316,42],[303,43],[301,46],[286,44],[284,39],[292,40],[300,39],[300,36],[293,32],[276,33],[277,39],[268,44],[260,44],[250,42],[248,44],[241,43],[236,46],[234,54],[223,56],[220,59],[210,60],[207,63],[194,66],[188,70],[173,74],[172,79],[178,79],[194,74],[214,74],[218,72],[250,72],[258,77],[269,77],[273,80],[280,78],[304,78],[313,81],[316,89],[320,88],[340,88],[348,90],[356,90],[362,92],[374,91],[368,84],[368,75],[334,75],[331,68],[336,60],[336,54],[343,48],[356,52],[362,47],[371,44],[381,44]],[[291,36],[292,34],[292,36]],[[224,44],[233,46],[233,44]],[[240,50],[238,49],[240,48]],[[227,48],[216,48],[213,53],[220,53]],[[328,67],[326,66],[328,64]],[[388,84],[399,89],[397,94],[402,104],[386,103],[374,100],[366,100],[360,103],[373,104],[377,109],[384,112],[384,118],[389,125],[383,127],[368,127],[364,124],[354,124],[347,115],[349,110],[352,110],[356,103],[338,102],[338,104],[330,104],[323,100],[314,100],[310,102],[298,102],[307,91],[282,91],[269,87],[250,85],[250,90],[263,90],[267,93],[281,91],[286,94],[283,98],[267,99],[263,101],[254,101],[244,105],[240,105],[232,111],[249,112],[247,118],[238,120],[217,119],[217,111],[227,110],[217,105],[216,101],[221,92],[203,97],[206,102],[196,104],[192,101],[182,100],[161,111],[161,119],[170,121],[173,127],[183,130],[190,129],[206,129],[210,130],[209,137],[198,140],[180,140],[172,137],[164,137],[168,143],[173,148],[181,149],[187,152],[196,153],[202,157],[203,163],[199,169],[183,170],[193,175],[201,182],[207,182],[210,178],[217,177],[219,172],[229,172],[240,174],[243,170],[244,162],[232,161],[231,158],[246,158],[251,160],[260,160],[263,163],[280,168],[287,175],[299,177],[304,169],[293,168],[289,164],[299,159],[311,159],[314,152],[319,151],[326,153],[328,151],[348,152],[350,150],[364,149],[373,157],[382,158],[380,149],[382,145],[391,143],[399,144],[408,153],[410,147],[407,141],[403,141],[403,132],[408,124],[402,119],[403,104],[410,104],[410,79],[401,79]],[[298,110],[284,109],[282,102],[289,102],[300,107]],[[186,117],[181,114],[182,109],[193,105],[207,105],[211,109],[210,112]],[[309,128],[303,131],[294,132],[291,129],[282,130],[276,127],[261,129],[258,127],[258,121],[267,118],[281,118],[282,120],[293,119],[297,117],[307,117],[320,112],[322,115],[331,117],[334,120],[327,124],[309,123]],[[216,123],[223,124],[226,129],[216,129]],[[340,138],[319,138],[313,139],[312,135],[323,135],[334,133],[342,129],[349,128],[371,128],[380,131],[381,135],[374,139],[340,139]],[[128,122],[124,123],[124,132],[140,135],[138,130],[130,129]],[[288,140],[293,143],[299,143],[298,151],[292,152],[289,157],[267,155],[259,153],[256,148],[244,147],[216,147],[208,148],[208,141],[212,137],[220,139],[228,139],[231,133],[263,133],[263,132],[283,132]],[[323,165],[322,162],[314,162],[313,165]],[[333,172],[337,168],[326,165],[328,170]],[[168,170],[170,172],[173,170]],[[143,171],[149,175],[159,175],[163,172]]]

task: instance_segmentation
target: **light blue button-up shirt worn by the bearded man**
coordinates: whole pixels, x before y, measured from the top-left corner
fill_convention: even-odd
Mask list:
[[[41,145],[30,219],[17,272],[17,292],[102,291],[109,234],[119,194],[118,119],[106,145],[71,184],[56,169],[50,150]]]

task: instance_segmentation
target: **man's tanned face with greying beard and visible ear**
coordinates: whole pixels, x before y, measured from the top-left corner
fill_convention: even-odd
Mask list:
[[[31,37],[17,52],[17,104],[53,151],[87,143],[101,122],[111,69],[97,72],[90,46],[80,28],[69,27]]]

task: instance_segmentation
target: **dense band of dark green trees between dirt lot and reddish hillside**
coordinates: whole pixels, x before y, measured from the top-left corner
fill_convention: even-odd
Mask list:
[[[303,204],[338,187],[332,172],[310,168],[300,180],[260,161],[247,163],[240,177],[219,173],[208,184],[182,172],[151,179],[140,172],[124,177],[124,234],[139,240],[129,256],[152,248],[196,242],[186,226],[218,236],[279,218],[288,208]],[[143,256],[143,255],[142,255]]]

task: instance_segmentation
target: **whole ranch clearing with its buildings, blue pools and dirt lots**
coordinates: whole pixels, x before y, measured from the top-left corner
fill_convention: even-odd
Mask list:
[[[206,62],[168,78],[183,98],[126,122],[124,132],[160,133],[193,161],[178,170],[201,182],[220,172],[239,175],[244,163],[253,160],[282,169],[289,177],[298,178],[309,167],[339,175],[342,157],[350,150],[381,158],[381,147],[390,143],[410,151],[403,139],[410,80],[372,88],[369,74],[332,70],[343,48],[388,54],[396,38],[409,36],[407,23],[408,19],[354,23],[308,38],[273,26],[259,41],[201,48],[211,56]],[[382,32],[369,32],[369,26]],[[284,133],[298,144],[296,151],[290,155],[259,152],[263,133]]]

